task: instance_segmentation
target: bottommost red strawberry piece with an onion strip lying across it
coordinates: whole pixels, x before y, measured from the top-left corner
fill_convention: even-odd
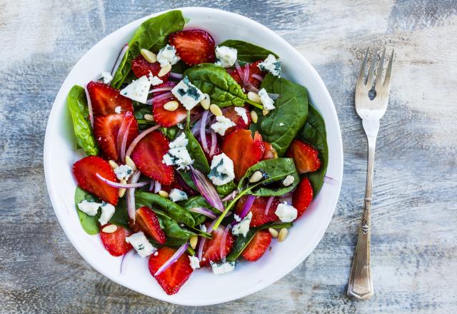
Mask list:
[[[193,271],[189,263],[189,255],[184,253],[169,268],[166,268],[163,273],[154,276],[161,265],[164,265],[175,252],[176,250],[174,248],[164,246],[157,250],[157,255],[154,253],[149,258],[149,272],[168,295],[178,293],[179,288],[186,283]]]

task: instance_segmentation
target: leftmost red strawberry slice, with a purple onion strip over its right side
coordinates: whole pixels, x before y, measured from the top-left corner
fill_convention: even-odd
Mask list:
[[[100,176],[110,181],[117,181],[113,169],[104,158],[98,156],[84,157],[74,163],[73,173],[79,187],[84,191],[98,196],[106,203],[117,204],[119,198],[117,188],[109,186],[96,176],[96,173],[99,173]]]

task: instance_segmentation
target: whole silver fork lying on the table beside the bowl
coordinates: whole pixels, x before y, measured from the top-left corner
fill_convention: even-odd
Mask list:
[[[368,77],[365,81],[366,61],[369,49],[366,50],[365,58],[358,73],[356,85],[356,111],[362,119],[363,129],[368,139],[368,166],[366,173],[365,200],[363,213],[358,230],[356,253],[352,263],[351,277],[348,283],[348,296],[356,300],[368,300],[373,296],[373,279],[371,278],[370,265],[370,238],[371,238],[371,190],[373,188],[373,167],[376,137],[379,131],[379,119],[386,113],[388,103],[388,91],[391,87],[391,74],[393,63],[393,50],[388,61],[386,78],[382,78],[384,56],[383,49],[379,61],[378,71],[375,74],[378,49],[375,50],[371,61]]]

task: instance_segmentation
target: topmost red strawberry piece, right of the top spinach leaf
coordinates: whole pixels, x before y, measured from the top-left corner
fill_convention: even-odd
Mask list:
[[[214,52],[216,44],[207,31],[202,29],[178,31],[169,36],[169,41],[178,56],[189,66],[216,61]]]

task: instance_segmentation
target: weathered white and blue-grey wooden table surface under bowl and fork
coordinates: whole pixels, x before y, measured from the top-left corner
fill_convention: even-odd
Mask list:
[[[316,250],[277,283],[187,308],[104,278],[73,248],[46,192],[43,143],[57,91],[91,46],[154,11],[211,6],[250,17],[298,49],[338,111],[344,178]],[[456,313],[457,2],[0,0],[0,313]],[[365,186],[353,92],[367,46],[396,49],[373,194],[375,296],[346,298]],[[221,291],[224,293],[224,291]]]

